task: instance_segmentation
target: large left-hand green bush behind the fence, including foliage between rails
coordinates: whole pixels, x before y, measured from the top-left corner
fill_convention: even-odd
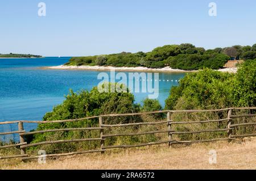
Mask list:
[[[117,83],[107,83],[104,86],[109,85],[109,92],[99,92],[97,87],[94,87],[91,91],[79,91],[77,93],[72,90],[65,96],[65,100],[62,104],[55,106],[52,112],[44,115],[44,121],[51,120],[67,120],[67,119],[79,119],[82,117],[89,117],[94,115],[105,115],[112,113],[127,113],[127,112],[139,112],[139,105],[134,104],[134,96],[129,90],[127,92],[110,92],[110,86],[120,86]],[[115,121],[119,123],[131,123],[133,121],[140,121],[135,119],[136,117],[122,117],[119,120],[115,120],[112,117],[106,117],[105,123],[113,124]],[[37,130],[45,129],[60,129],[60,128],[82,128],[82,127],[97,127],[98,119],[89,119],[67,123],[54,123],[54,124],[40,124]],[[98,131],[76,131],[76,132],[60,132],[60,133],[44,133],[36,134],[32,142],[41,142],[49,140],[65,140],[69,138],[88,138],[98,137]],[[56,146],[56,145],[54,145]],[[89,145],[80,145],[89,148]],[[90,145],[90,148],[96,145]],[[71,151],[77,150],[77,145],[74,144],[58,144],[57,147],[48,145],[44,147],[51,153],[54,150]],[[68,150],[66,150],[68,149]]]

